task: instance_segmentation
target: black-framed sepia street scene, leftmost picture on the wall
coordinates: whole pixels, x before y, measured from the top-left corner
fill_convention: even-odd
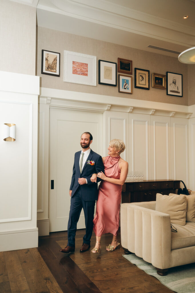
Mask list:
[[[60,53],[42,50],[41,73],[59,77]]]

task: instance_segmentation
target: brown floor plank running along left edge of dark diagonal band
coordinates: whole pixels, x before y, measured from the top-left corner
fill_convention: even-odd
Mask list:
[[[59,287],[57,281],[53,277],[52,273],[50,272],[49,268],[47,267],[46,263],[42,259],[40,253],[38,252],[37,248],[30,248],[30,253],[37,264],[40,274],[45,280],[45,283],[51,293],[63,293],[61,288]]]

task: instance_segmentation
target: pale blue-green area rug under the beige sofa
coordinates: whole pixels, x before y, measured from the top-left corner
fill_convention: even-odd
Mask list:
[[[123,255],[148,275],[156,277],[163,285],[177,293],[195,293],[195,263],[168,270],[167,276],[159,276],[155,267],[133,254]]]

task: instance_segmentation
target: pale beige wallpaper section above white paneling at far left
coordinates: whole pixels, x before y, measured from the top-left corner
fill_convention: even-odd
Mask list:
[[[0,70],[35,75],[36,8],[0,0]]]

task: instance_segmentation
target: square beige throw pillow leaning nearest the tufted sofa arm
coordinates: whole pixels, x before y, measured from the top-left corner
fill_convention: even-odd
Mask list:
[[[186,195],[156,195],[156,211],[169,214],[172,224],[186,224],[187,200]]]

